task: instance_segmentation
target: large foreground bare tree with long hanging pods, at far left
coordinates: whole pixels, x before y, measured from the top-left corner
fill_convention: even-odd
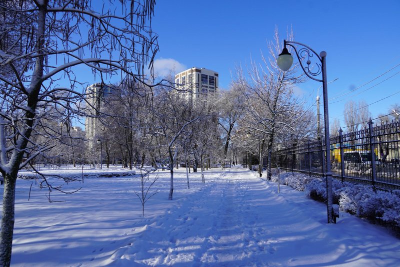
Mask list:
[[[65,136],[41,120],[50,108],[60,113],[68,126],[73,116],[84,115],[81,92],[85,86],[76,80],[73,70],[86,67],[102,79],[113,74],[140,74],[147,60],[151,66],[158,49],[156,36],[148,27],[154,1],[118,3],[118,8],[90,0],[0,3],[0,69],[7,69],[0,71],[0,88],[5,93],[0,96],[3,266],[11,259],[18,170],[51,149],[54,138]],[[58,86],[65,80],[69,85]],[[35,142],[33,135],[41,134],[51,140],[37,138],[42,141]]]

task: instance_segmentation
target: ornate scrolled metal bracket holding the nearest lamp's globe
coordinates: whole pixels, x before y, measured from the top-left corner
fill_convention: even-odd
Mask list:
[[[284,47],[289,46],[292,47],[294,52],[296,53],[298,62],[301,66],[301,69],[303,69],[305,75],[308,76],[308,78],[317,81],[317,82],[322,82],[322,79],[317,79],[315,77],[319,76],[322,73],[322,59],[321,57],[314,51],[312,50],[310,47],[298,43],[298,42],[294,42],[294,41],[283,41]],[[294,46],[293,44],[302,46],[302,48],[300,48],[299,50],[297,50],[296,46]],[[311,71],[310,68],[310,64],[311,64],[311,60],[313,60],[314,55],[316,56],[316,58],[319,60],[315,62],[315,64],[313,65],[314,67],[316,67],[316,71]],[[307,60],[305,63],[307,64],[306,66],[303,65],[303,60]]]

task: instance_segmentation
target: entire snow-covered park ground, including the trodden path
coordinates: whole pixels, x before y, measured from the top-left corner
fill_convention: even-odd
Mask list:
[[[134,176],[69,183],[81,189],[52,203],[34,181],[28,201],[32,181],[18,179],[11,265],[400,266],[400,240],[383,228],[347,213],[327,224],[323,203],[246,169],[205,171],[205,184],[190,173],[186,189],[179,168],[172,201],[169,172],[156,174],[144,218]]]

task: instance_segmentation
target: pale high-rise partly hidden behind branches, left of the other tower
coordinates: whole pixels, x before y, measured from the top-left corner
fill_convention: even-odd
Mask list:
[[[95,116],[101,109],[102,103],[112,93],[112,88],[101,83],[95,83],[86,88],[86,113],[85,120],[85,139],[88,140],[88,147],[91,150],[99,137],[98,129],[100,122]]]

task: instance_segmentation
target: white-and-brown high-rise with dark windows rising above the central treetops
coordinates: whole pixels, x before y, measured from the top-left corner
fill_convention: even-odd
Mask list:
[[[218,73],[204,68],[190,68],[175,75],[178,87],[187,90],[187,99],[197,99],[201,95],[216,92]]]

